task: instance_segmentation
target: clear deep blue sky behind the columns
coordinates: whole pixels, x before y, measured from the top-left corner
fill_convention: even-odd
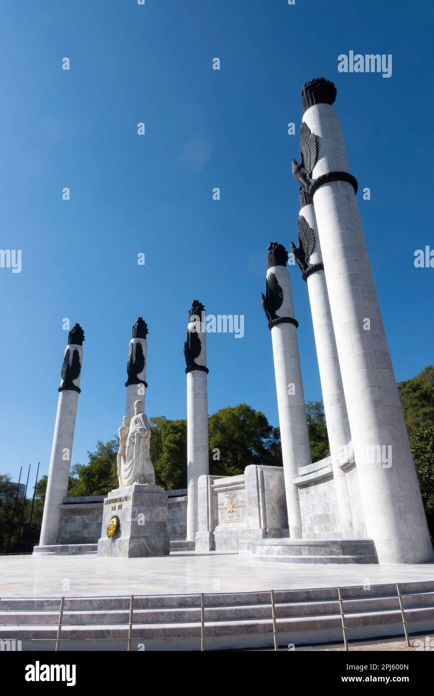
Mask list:
[[[22,272],[0,269],[1,472],[48,471],[63,317],[86,333],[73,464],[121,424],[138,315],[148,416],[185,417],[196,298],[245,315],[242,340],[208,336],[210,413],[247,402],[278,424],[260,294],[268,243],[297,234],[287,124],[298,130],[312,77],[335,82],[352,173],[371,188],[359,208],[396,378],[433,363],[434,269],[413,265],[415,249],[434,246],[433,9],[421,6],[2,0],[0,246],[22,249]],[[392,54],[392,77],[339,73],[350,49]],[[307,287],[291,276],[305,397],[319,400]]]

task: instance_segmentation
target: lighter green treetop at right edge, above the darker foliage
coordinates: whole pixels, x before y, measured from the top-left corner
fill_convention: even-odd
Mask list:
[[[428,365],[416,377],[398,382],[405,424],[410,432],[434,425],[434,366]]]

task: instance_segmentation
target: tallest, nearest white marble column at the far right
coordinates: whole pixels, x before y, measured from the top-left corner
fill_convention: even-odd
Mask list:
[[[427,562],[433,547],[335,99],[324,78],[303,87],[303,122],[316,136],[318,161],[313,181],[302,170],[298,180],[315,207],[366,531],[380,562]]]

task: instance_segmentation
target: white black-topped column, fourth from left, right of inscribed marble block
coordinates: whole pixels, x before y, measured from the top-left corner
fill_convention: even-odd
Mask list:
[[[289,533],[292,539],[301,539],[300,500],[293,478],[298,476],[300,466],[308,466],[312,459],[298,351],[298,322],[293,318],[293,293],[286,267],[288,252],[277,242],[272,242],[268,251],[267,289],[262,304],[273,346]]]

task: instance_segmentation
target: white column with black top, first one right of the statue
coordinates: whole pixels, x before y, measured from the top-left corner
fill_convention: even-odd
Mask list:
[[[187,540],[195,541],[198,526],[199,476],[209,473],[208,391],[205,308],[194,300],[188,313],[184,356],[187,367]]]

